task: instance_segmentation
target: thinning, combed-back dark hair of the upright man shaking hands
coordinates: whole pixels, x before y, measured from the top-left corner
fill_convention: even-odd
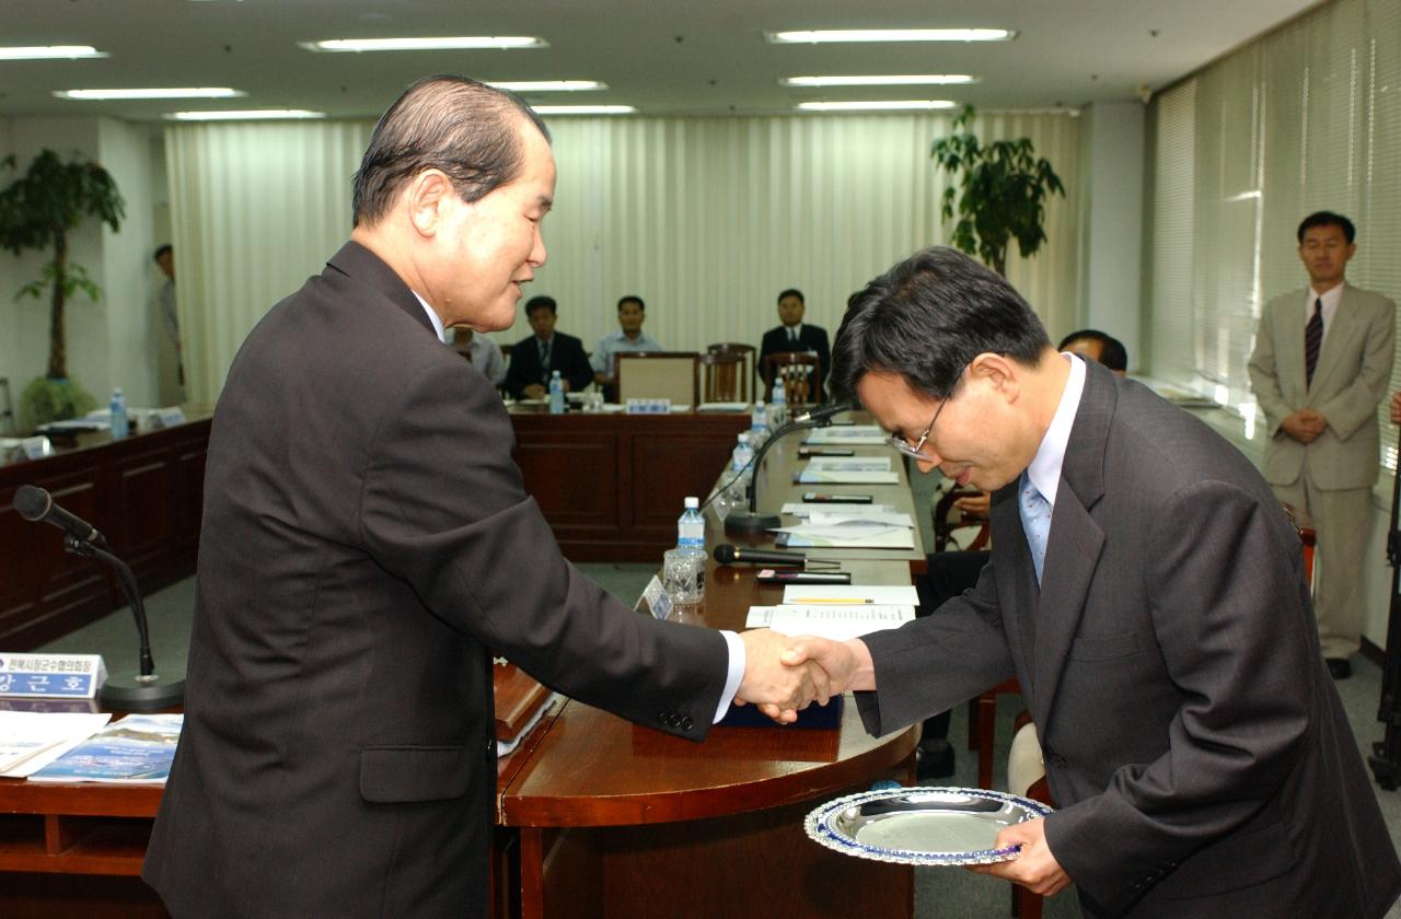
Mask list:
[[[545,122],[514,92],[451,74],[419,80],[370,134],[354,174],[354,226],[382,219],[425,170],[447,174],[465,202],[486,198],[524,165],[523,118],[549,140]]]

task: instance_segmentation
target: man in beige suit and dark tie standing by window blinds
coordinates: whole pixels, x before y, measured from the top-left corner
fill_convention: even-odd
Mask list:
[[[1377,403],[1391,377],[1395,339],[1395,304],[1345,282],[1355,237],[1352,221],[1330,212],[1299,224],[1309,290],[1265,304],[1250,357],[1250,381],[1269,436],[1265,479],[1279,500],[1313,520],[1318,534],[1314,611],[1323,654],[1337,679],[1352,674],[1348,658],[1362,636],[1362,556],[1379,467]],[[1310,339],[1318,342],[1316,349]]]

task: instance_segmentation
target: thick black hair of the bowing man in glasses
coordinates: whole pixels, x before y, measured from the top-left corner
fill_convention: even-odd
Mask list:
[[[933,247],[846,301],[832,347],[832,387],[838,399],[853,399],[862,377],[877,370],[947,399],[978,354],[1035,366],[1049,345],[1041,319],[1012,284],[957,249]]]

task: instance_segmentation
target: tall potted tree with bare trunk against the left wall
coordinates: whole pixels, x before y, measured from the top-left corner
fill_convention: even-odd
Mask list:
[[[13,170],[15,158],[8,156],[0,164]],[[53,261],[15,294],[15,300],[38,300],[49,290],[49,368],[20,396],[25,424],[73,417],[95,405],[92,396],[69,378],[63,305],[78,290],[94,303],[102,291],[87,269],[69,261],[69,233],[88,217],[116,231],[123,216],[122,195],[106,170],[77,157],[64,163],[52,150],[41,151],[28,171],[0,192],[0,248],[15,255],[25,249],[53,252]]]

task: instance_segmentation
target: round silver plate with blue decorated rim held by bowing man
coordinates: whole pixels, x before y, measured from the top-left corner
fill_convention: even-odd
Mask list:
[[[992,864],[1020,846],[998,834],[1051,813],[1040,801],[986,789],[912,787],[848,794],[808,813],[803,829],[843,855],[897,864]]]

